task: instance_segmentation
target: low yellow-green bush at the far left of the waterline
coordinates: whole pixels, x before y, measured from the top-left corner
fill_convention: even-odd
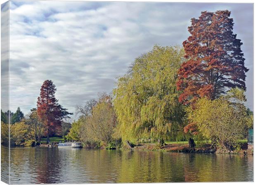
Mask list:
[[[10,144],[17,146],[25,146],[28,138],[28,125],[24,121],[10,125]]]

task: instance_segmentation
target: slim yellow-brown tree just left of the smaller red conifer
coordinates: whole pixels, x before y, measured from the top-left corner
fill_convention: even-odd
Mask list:
[[[45,130],[43,123],[39,120],[37,110],[35,108],[30,110],[31,112],[26,116],[26,125],[28,125],[28,135],[31,140],[32,146],[38,146],[41,144],[41,137]]]

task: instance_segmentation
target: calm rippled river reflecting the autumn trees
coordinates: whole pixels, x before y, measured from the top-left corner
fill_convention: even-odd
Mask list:
[[[10,157],[11,184],[253,181],[252,155],[17,147]]]

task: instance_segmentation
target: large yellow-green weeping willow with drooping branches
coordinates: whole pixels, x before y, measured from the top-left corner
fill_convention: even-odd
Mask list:
[[[119,122],[116,132],[123,141],[151,139],[163,144],[170,138],[172,127],[183,123],[185,112],[175,86],[183,55],[178,46],[154,46],[118,79],[113,90]]]

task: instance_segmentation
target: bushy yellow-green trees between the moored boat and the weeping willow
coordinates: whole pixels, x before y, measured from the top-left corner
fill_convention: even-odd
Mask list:
[[[81,116],[72,124],[66,139],[81,140],[87,147],[96,147],[99,143],[108,146],[113,141],[116,114],[110,95],[102,93],[97,100],[78,106],[77,111]]]

